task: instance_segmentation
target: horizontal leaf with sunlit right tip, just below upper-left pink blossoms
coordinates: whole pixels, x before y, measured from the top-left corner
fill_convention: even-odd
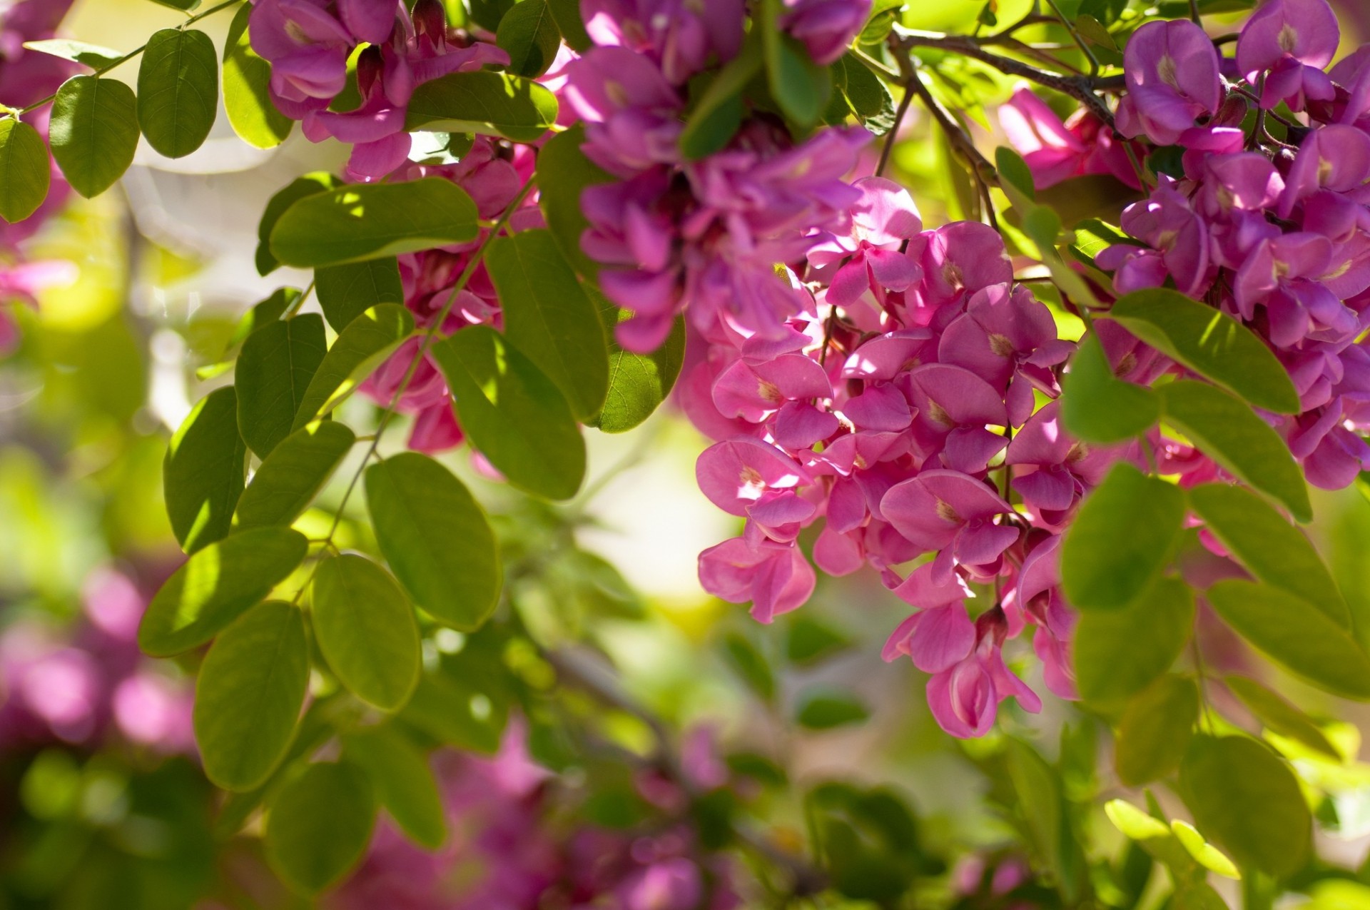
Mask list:
[[[451,73],[414,89],[407,130],[481,133],[532,143],[556,122],[556,96],[537,82],[486,70]]]

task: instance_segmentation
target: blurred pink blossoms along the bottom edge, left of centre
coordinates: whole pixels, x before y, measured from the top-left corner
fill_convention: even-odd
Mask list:
[[[610,831],[571,822],[564,813],[571,795],[529,758],[519,720],[506,729],[496,757],[443,751],[434,754],[433,766],[452,832],[447,846],[422,850],[382,824],[362,866],[325,898],[326,910],[730,910],[738,905],[730,866],[700,850],[688,824],[667,818],[651,831]],[[697,785],[725,783],[717,759],[703,770]],[[663,813],[685,807],[674,785],[641,780],[638,789]]]

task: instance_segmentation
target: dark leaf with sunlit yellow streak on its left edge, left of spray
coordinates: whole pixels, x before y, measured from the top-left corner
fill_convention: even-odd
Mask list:
[[[229,533],[242,495],[247,452],[232,385],[200,399],[171,437],[162,463],[162,491],[171,530],[186,552]]]

